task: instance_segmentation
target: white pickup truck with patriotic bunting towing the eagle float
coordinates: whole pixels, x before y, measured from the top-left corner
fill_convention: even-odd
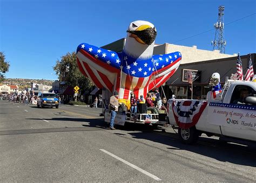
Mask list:
[[[241,90],[248,91],[244,102],[238,102]],[[178,126],[184,143],[196,142],[202,133],[256,141],[256,82],[227,80],[218,100],[170,99],[168,110],[167,123]]]

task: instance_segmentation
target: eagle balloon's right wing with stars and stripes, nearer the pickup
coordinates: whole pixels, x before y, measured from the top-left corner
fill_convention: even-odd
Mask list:
[[[149,83],[149,90],[163,85],[178,69],[181,60],[180,52],[164,55],[153,55],[153,73]]]

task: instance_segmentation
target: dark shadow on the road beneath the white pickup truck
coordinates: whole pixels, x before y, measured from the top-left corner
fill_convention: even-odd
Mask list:
[[[223,162],[256,167],[256,147],[253,144],[252,146],[242,146],[239,144],[220,142],[218,139],[200,137],[196,144],[186,145],[177,139],[178,135],[176,135],[177,137],[169,137],[160,135],[159,133],[151,133],[151,135],[149,135],[147,132],[129,134],[133,136],[133,138],[146,139],[168,145],[170,147],[166,148],[167,151],[186,150]],[[175,134],[172,133],[172,136],[175,136]]]

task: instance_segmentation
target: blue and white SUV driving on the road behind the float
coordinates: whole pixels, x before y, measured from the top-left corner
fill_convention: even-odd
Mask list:
[[[56,94],[53,93],[38,93],[37,95],[37,107],[56,107],[59,108],[59,99]]]

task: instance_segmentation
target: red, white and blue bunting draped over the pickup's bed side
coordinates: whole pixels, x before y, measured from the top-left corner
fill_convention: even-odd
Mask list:
[[[189,129],[196,125],[206,105],[206,101],[173,100],[173,116],[179,128]]]

